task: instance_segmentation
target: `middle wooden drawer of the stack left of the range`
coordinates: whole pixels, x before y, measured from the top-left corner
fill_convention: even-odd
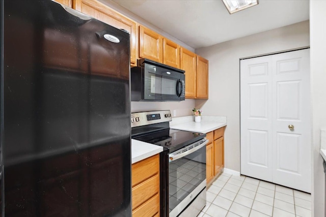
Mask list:
[[[132,209],[159,192],[158,174],[132,188]]]

